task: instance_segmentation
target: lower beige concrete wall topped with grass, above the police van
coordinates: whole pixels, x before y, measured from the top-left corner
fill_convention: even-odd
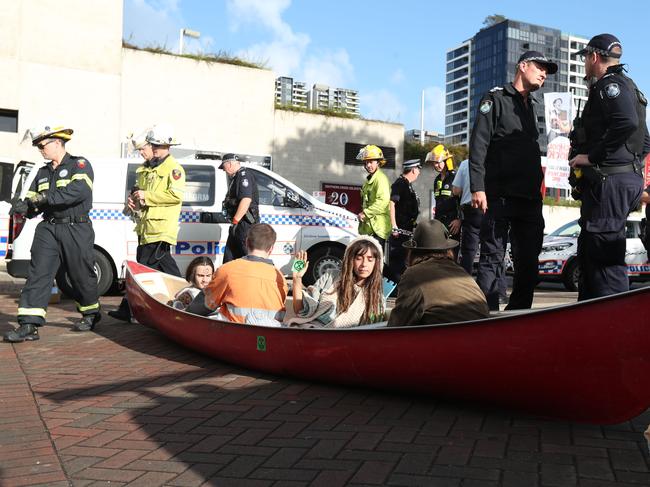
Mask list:
[[[272,151],[275,74],[123,49],[121,131],[171,123],[184,147]]]

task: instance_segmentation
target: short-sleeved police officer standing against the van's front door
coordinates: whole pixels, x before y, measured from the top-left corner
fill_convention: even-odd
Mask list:
[[[253,171],[248,171],[241,166],[237,154],[225,154],[219,169],[226,171],[229,179],[223,209],[232,222],[223,255],[225,264],[248,253],[246,249],[248,230],[260,221],[259,194]]]

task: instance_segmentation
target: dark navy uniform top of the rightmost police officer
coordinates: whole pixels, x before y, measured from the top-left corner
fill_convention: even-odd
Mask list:
[[[589,162],[627,164],[650,152],[645,123],[647,101],[623,65],[610,66],[589,91],[582,112]]]

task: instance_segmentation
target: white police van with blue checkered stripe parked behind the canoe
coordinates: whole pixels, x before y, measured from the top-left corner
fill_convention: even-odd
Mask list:
[[[223,260],[230,223],[222,212],[228,188],[220,160],[182,158],[186,186],[180,215],[178,242],[172,255],[182,273],[197,256],[208,256],[219,266]],[[138,240],[134,223],[124,215],[124,201],[135,184],[140,159],[90,160],[95,174],[93,208],[90,217],[95,230],[95,271],[100,294],[123,277],[123,262],[135,260]],[[14,194],[25,197],[41,164],[20,162],[14,172]],[[353,213],[318,201],[278,174],[254,164],[242,164],[252,171],[258,185],[260,221],[277,233],[271,258],[276,267],[290,275],[291,258],[297,249],[307,250],[309,269],[304,280],[314,282],[328,271],[340,269],[345,247],[358,235]],[[38,216],[31,220],[13,215],[9,222],[7,271],[27,277],[30,248]],[[65,293],[70,284],[64,270],[56,277]]]

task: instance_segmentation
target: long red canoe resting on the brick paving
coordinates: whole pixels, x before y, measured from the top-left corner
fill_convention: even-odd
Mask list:
[[[164,303],[184,280],[135,262],[127,270],[140,323],[250,369],[586,423],[618,423],[650,407],[650,287],[465,323],[319,330],[178,311]]]

